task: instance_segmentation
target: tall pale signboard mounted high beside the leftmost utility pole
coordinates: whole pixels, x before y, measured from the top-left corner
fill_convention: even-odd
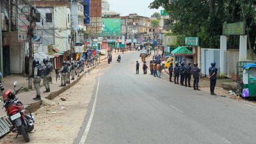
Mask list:
[[[29,20],[27,19],[30,13],[30,6],[28,5],[19,5],[18,6],[18,40],[19,41],[28,41],[28,26]]]

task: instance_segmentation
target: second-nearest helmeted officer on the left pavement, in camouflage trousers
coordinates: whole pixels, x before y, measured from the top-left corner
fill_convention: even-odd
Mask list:
[[[49,86],[51,65],[49,65],[47,58],[44,58],[43,62],[44,62],[43,83],[44,83],[44,86],[45,86],[45,89],[46,89],[44,93],[47,93],[47,92],[51,92],[50,86]]]

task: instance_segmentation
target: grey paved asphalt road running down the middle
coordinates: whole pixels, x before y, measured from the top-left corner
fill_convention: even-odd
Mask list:
[[[85,143],[256,143],[255,108],[143,75],[142,68],[136,75],[138,55],[126,54],[101,71]]]

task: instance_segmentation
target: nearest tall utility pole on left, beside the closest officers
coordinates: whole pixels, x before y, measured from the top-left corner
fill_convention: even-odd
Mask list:
[[[33,23],[33,12],[31,6],[29,6],[30,13],[29,13],[29,28],[28,28],[28,37],[29,37],[29,74],[32,74],[33,72],[33,48],[32,48],[32,35],[33,35],[33,28],[32,28],[32,23]],[[28,80],[28,88],[32,89],[32,77],[29,78]]]

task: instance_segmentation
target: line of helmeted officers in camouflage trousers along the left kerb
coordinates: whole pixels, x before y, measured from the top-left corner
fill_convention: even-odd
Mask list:
[[[36,90],[36,97],[33,98],[34,100],[41,100],[41,95],[40,95],[40,83],[41,79],[43,79],[43,83],[45,86],[45,93],[51,92],[50,90],[50,77],[51,77],[51,72],[52,72],[52,65],[49,63],[48,59],[45,58],[43,60],[44,65],[42,66],[40,62],[37,59],[33,60],[33,72],[29,76],[33,77],[33,84],[35,86]],[[75,79],[75,75],[79,77],[79,73],[84,71],[84,61],[79,60],[79,61],[71,61],[71,62],[62,62],[62,67],[60,69],[56,69],[56,81],[59,77],[61,77],[61,85],[60,86],[66,86],[66,84],[70,83],[70,80]],[[71,79],[70,79],[71,76]]]

